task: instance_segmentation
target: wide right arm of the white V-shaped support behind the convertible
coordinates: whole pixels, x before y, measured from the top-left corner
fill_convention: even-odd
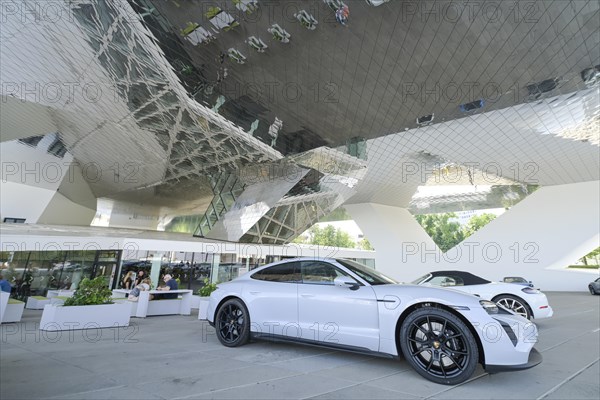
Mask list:
[[[491,280],[523,276],[543,290],[585,291],[598,271],[566,267],[600,246],[599,221],[599,181],[543,187],[449,250],[439,269]]]

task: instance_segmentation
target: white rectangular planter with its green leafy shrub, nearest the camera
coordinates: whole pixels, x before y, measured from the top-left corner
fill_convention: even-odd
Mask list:
[[[47,304],[42,313],[40,330],[129,326],[130,304],[113,303],[111,290],[103,277],[84,279],[72,297],[64,304]]]

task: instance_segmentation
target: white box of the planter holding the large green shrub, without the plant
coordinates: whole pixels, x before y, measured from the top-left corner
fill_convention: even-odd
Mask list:
[[[48,304],[42,313],[40,330],[66,331],[129,326],[130,313],[131,305],[127,303],[71,307]]]

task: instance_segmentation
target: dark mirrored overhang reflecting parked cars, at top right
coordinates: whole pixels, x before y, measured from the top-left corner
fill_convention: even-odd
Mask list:
[[[600,63],[597,1],[391,1],[379,7],[348,1],[347,26],[322,0],[258,2],[250,15],[225,1],[151,3],[155,10],[144,21],[177,35],[189,56],[182,61],[177,53],[171,61],[191,62],[214,87],[212,95],[199,95],[202,101],[212,105],[223,94],[223,112],[246,129],[257,118],[266,121],[263,129],[279,118],[276,148],[284,154],[412,129],[429,114],[434,122],[463,118],[459,105],[478,99],[485,106],[476,112],[528,102],[536,97],[528,86],[548,79],[558,79],[556,88],[538,95],[574,92],[585,88],[581,71]],[[216,29],[207,13],[217,5],[239,26]],[[300,9],[318,20],[315,30],[294,18]],[[166,23],[159,26],[159,18]],[[182,40],[188,22],[215,32],[215,39]],[[291,35],[289,43],[271,38],[273,23]],[[250,36],[268,45],[264,53],[249,47]],[[159,44],[167,53],[174,47]],[[246,56],[245,64],[222,62],[219,55],[230,48]],[[226,78],[215,83],[224,69]]]

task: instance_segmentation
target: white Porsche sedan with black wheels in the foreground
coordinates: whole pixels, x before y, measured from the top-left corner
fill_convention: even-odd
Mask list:
[[[298,258],[265,265],[210,296],[208,321],[228,347],[251,337],[292,340],[386,357],[400,352],[425,378],[464,382],[530,368],[537,328],[476,296],[397,284],[353,261]]]

